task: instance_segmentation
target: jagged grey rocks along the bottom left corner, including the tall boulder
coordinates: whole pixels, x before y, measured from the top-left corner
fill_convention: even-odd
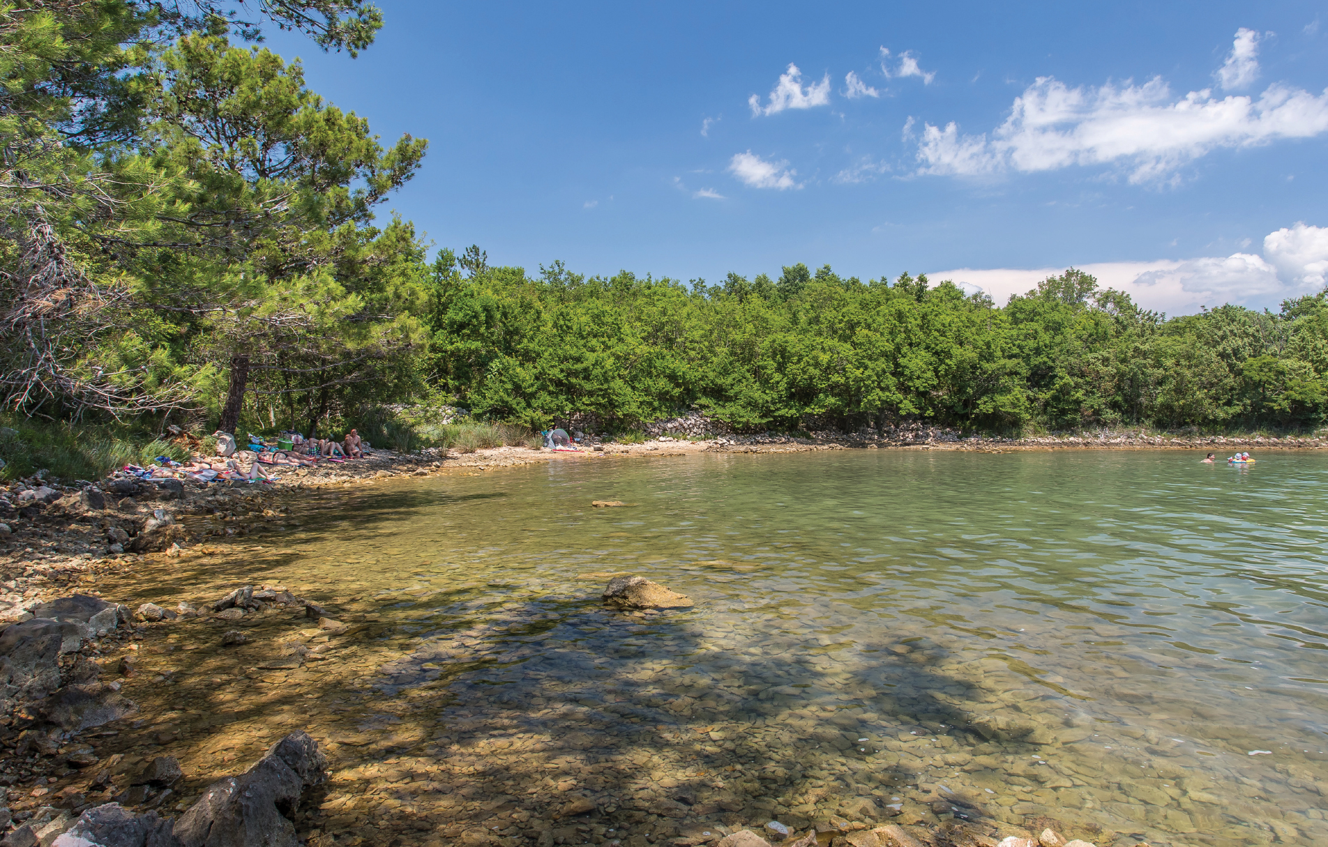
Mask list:
[[[131,814],[120,803],[89,809],[54,847],[296,847],[292,816],[325,778],[327,757],[295,732],[239,777],[214,782],[178,819]],[[5,840],[23,831],[16,830]],[[21,840],[21,839],[20,839]],[[33,834],[32,843],[36,843]],[[25,847],[31,847],[25,846]]]

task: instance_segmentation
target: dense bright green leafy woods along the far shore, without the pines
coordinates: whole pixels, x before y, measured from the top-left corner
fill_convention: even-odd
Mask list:
[[[997,307],[926,276],[863,283],[829,266],[685,287],[466,264],[444,252],[432,268],[424,374],[530,425],[695,408],[760,429],[1313,426],[1328,400],[1324,295],[1166,320],[1074,270]]]

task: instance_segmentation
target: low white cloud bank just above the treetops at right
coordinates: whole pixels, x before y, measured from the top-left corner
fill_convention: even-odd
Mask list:
[[[1263,256],[1230,256],[1158,262],[1104,262],[1077,266],[1097,277],[1102,288],[1129,293],[1139,305],[1169,315],[1190,315],[1201,307],[1235,303],[1278,308],[1287,297],[1319,291],[1328,275],[1328,228],[1297,223],[1271,232]],[[928,273],[954,280],[969,291],[985,291],[997,303],[1024,293],[1065,268],[957,268]]]

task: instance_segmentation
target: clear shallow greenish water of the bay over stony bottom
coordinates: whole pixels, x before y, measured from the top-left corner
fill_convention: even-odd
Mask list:
[[[599,816],[555,840],[899,814],[1328,843],[1328,457],[1197,458],[578,457],[315,495],[280,536],[102,589],[280,583],[352,621],[255,616],[238,649],[182,628],[147,657],[174,684],[135,694],[201,771],[328,741],[337,843],[537,838],[582,795]],[[612,572],[696,607],[607,611]],[[296,641],[303,668],[254,669]]]

